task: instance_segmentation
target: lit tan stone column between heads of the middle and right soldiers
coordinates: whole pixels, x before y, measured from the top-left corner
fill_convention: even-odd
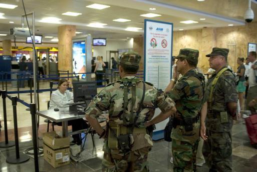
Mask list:
[[[208,58],[205,57],[212,51],[213,47],[216,47],[216,29],[215,28],[203,28],[202,29],[202,40],[201,40],[201,50],[198,59],[198,67],[207,73],[209,69]]]

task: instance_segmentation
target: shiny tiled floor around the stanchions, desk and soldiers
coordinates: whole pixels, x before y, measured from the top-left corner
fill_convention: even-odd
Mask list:
[[[48,82],[41,82],[40,88],[49,88]],[[27,90],[25,88],[24,90]],[[9,90],[15,91],[16,88],[9,86]],[[24,99],[29,103],[30,97],[28,94],[21,94],[21,99]],[[46,109],[49,100],[49,92],[40,93],[40,109]],[[8,134],[9,139],[14,140],[14,127],[13,127],[13,112],[11,101],[7,99],[7,111],[8,111]],[[0,119],[3,123],[3,103],[2,97],[0,98]],[[26,111],[24,105],[18,103],[18,127],[19,127],[19,144],[20,151],[23,152],[27,148],[32,147],[32,129],[31,129],[31,115],[29,111]],[[44,119],[40,118],[39,137],[42,137],[42,133],[46,132],[47,124]],[[5,140],[4,128],[1,128],[0,142]],[[57,132],[61,131],[61,127],[55,126]],[[85,144],[85,152],[87,155],[86,160],[82,162],[72,161],[69,165],[65,165],[58,168],[53,168],[43,157],[39,157],[40,171],[102,171],[101,159],[103,157],[102,144],[103,139],[99,139],[95,136],[96,147],[93,148],[91,136],[87,137]],[[39,144],[42,145],[42,140],[39,140]],[[257,149],[251,147],[249,138],[246,132],[244,121],[241,119],[236,122],[232,129],[232,148],[233,148],[233,171],[256,171],[257,172]],[[29,161],[21,164],[9,164],[6,162],[6,157],[15,155],[15,147],[0,148],[0,171],[35,171],[34,159],[30,158]],[[170,143],[159,140],[154,142],[154,146],[149,153],[148,162],[150,171],[173,171],[172,164],[169,162],[171,156]],[[91,158],[89,158],[91,157]],[[198,167],[197,171],[208,171],[207,166],[204,164],[202,167]]]

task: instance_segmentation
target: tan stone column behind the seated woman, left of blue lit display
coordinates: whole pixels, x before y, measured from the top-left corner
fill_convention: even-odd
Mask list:
[[[73,25],[58,27],[58,70],[72,73],[72,37],[76,36],[75,32],[76,26]]]

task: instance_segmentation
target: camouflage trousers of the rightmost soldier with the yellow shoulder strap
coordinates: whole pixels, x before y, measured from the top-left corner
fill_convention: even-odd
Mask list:
[[[232,146],[230,132],[206,130],[208,140],[204,141],[202,153],[210,171],[232,171]]]

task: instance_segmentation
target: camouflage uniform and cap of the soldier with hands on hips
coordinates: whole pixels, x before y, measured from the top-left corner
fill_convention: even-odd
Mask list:
[[[138,55],[139,56],[139,55]],[[130,65],[131,55],[122,56],[121,63]],[[140,56],[139,56],[140,57]],[[136,57],[137,58],[137,57]],[[141,57],[140,57],[141,58]],[[138,59],[136,59],[138,60]],[[133,61],[133,60],[132,60]],[[140,59],[136,62],[139,64]],[[126,79],[136,79],[135,76],[126,76]],[[123,79],[124,79],[123,78]],[[124,113],[124,85],[121,82],[115,82],[105,87],[89,104],[86,114],[92,118],[97,118],[102,111],[109,110],[109,123],[119,124],[124,127],[124,118],[130,120],[130,111],[133,110],[133,116],[136,114],[143,94],[143,82],[139,80],[136,84],[135,105],[132,107],[132,90],[128,87],[128,106]],[[133,132],[134,143],[130,151],[124,152],[119,149],[110,149],[108,138],[105,138],[103,151],[104,159],[102,161],[103,171],[148,171],[147,155],[149,148],[153,146],[152,138],[145,131],[144,123],[152,119],[155,108],[159,107],[165,112],[174,107],[174,102],[163,92],[157,90],[149,83],[145,83],[145,97],[141,107],[139,117],[136,120],[137,128],[144,128],[144,132]],[[135,116],[134,116],[135,117]],[[126,127],[126,126],[125,126]],[[111,132],[109,135],[112,134]],[[115,166],[116,163],[116,166]]]

